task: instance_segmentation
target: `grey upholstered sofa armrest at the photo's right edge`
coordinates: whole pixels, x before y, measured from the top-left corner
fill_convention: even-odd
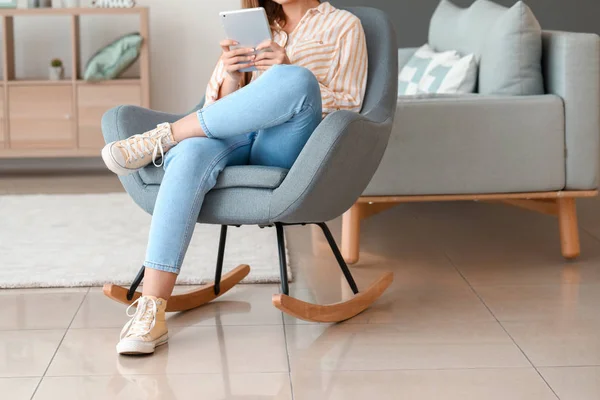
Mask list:
[[[543,34],[546,92],[565,103],[566,189],[598,187],[600,165],[600,38]]]

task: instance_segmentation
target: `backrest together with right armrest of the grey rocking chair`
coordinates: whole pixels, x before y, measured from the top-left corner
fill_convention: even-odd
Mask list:
[[[348,210],[373,178],[385,153],[398,93],[398,46],[388,16],[369,7],[348,8],[367,39],[369,72],[361,114],[330,114],[306,143],[273,192],[271,218],[329,221]],[[350,122],[355,121],[356,123]]]

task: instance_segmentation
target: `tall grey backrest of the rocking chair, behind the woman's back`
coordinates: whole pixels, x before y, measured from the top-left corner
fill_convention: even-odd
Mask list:
[[[398,46],[388,16],[371,7],[349,7],[360,18],[369,52],[367,92],[361,114],[382,122],[394,115],[398,98]]]

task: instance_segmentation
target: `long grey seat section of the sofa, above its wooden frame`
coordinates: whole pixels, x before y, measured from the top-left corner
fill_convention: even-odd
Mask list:
[[[560,97],[398,99],[392,136],[364,196],[546,192],[565,187]]]

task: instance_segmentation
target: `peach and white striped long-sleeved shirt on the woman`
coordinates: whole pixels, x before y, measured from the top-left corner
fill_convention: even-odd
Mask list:
[[[367,86],[367,44],[360,20],[329,2],[312,8],[290,34],[273,31],[291,64],[309,69],[319,81],[323,116],[336,110],[359,112]],[[255,80],[264,71],[252,74]],[[206,104],[215,102],[227,71],[219,61],[206,90]]]

